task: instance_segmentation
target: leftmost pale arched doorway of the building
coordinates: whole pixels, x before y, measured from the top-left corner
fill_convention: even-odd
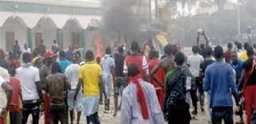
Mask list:
[[[14,40],[18,40],[20,45],[27,43],[27,26],[21,17],[8,17],[2,25],[2,31],[5,33],[2,46],[6,51],[12,51]]]

